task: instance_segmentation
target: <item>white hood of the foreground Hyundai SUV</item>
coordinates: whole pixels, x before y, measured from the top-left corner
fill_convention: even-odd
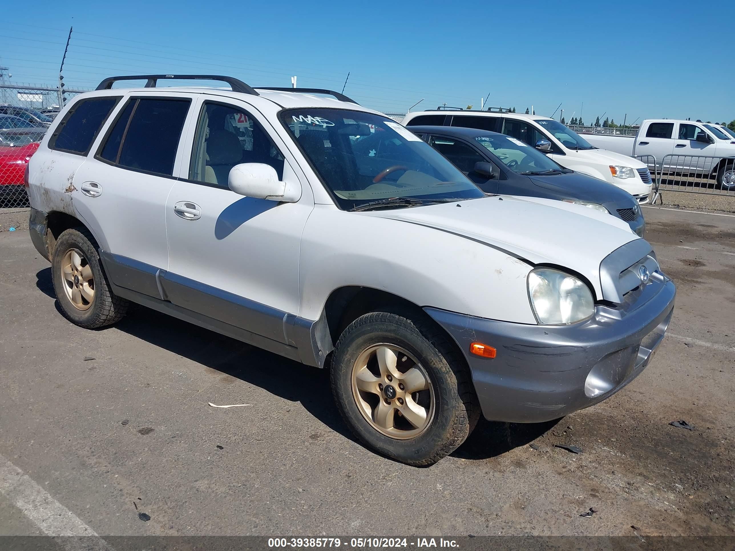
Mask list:
[[[461,205],[457,206],[457,205]],[[639,239],[623,220],[553,199],[499,195],[365,212],[476,240],[529,264],[556,264],[584,275],[602,297],[600,262]]]

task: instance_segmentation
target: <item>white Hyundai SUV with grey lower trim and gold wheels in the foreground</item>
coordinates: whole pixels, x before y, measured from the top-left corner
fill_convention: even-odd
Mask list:
[[[598,403],[661,342],[675,289],[623,220],[486,196],[338,93],[171,78],[196,77],[76,96],[30,161],[31,237],[73,323],[133,301],[328,367],[356,436],[414,465],[481,412]]]

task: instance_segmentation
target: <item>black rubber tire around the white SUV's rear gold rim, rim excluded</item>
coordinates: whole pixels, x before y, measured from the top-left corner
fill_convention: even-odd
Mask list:
[[[62,260],[71,249],[82,253],[93,273],[94,298],[86,310],[77,309],[63,287],[65,280],[62,276]],[[99,260],[97,242],[87,228],[68,229],[59,236],[54,247],[54,256],[51,258],[51,279],[62,314],[79,327],[87,329],[104,327],[118,322],[126,314],[129,302],[116,297],[110,290],[110,284]]]

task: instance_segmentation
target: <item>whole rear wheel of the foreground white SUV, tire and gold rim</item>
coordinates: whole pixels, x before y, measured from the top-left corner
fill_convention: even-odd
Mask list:
[[[97,250],[87,228],[73,228],[59,236],[51,258],[51,278],[62,313],[87,329],[121,320],[128,308],[128,301],[110,290]]]

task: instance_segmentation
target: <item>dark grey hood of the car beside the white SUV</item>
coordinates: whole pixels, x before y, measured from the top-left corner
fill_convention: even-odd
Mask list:
[[[637,202],[630,193],[621,190],[620,187],[579,172],[526,176],[534,185],[559,197],[614,206],[615,209],[630,209]]]

